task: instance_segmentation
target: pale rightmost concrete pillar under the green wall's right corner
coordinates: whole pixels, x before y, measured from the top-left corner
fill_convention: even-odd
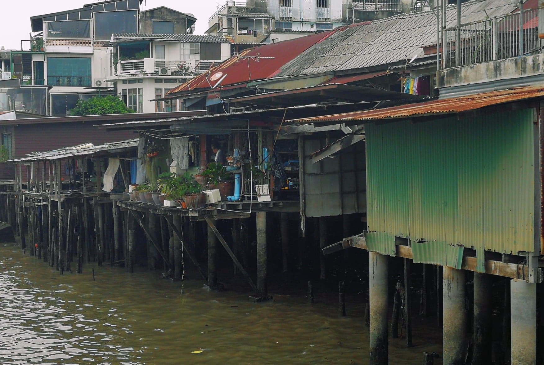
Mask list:
[[[536,284],[510,281],[511,365],[536,364]]]

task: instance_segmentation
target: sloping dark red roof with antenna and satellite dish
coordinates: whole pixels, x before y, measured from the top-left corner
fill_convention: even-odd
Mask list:
[[[250,48],[177,86],[170,90],[169,94],[195,89],[211,89],[225,75],[218,86],[224,87],[273,77],[280,72],[283,65],[333,32],[336,30]]]

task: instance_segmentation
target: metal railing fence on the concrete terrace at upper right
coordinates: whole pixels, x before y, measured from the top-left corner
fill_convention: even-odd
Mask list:
[[[489,62],[539,52],[538,10],[529,9],[488,20],[446,29],[444,66],[455,67]]]

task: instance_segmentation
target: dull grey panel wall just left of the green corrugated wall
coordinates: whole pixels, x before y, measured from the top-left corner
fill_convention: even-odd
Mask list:
[[[305,214],[308,217],[366,212],[364,143],[356,143],[312,163],[310,154],[326,146],[325,139],[304,141]]]

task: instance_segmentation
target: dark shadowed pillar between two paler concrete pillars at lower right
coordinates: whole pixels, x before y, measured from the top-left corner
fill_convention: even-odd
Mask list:
[[[491,276],[474,273],[474,365],[491,364]]]

